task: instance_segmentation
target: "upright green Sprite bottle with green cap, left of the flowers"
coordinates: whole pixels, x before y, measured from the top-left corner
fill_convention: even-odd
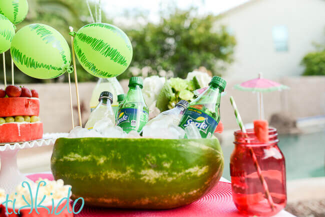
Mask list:
[[[149,109],[145,104],[141,77],[131,77],[128,83],[128,92],[124,100],[118,105],[116,115],[116,125],[123,128],[125,132],[131,130],[141,131],[148,122]]]

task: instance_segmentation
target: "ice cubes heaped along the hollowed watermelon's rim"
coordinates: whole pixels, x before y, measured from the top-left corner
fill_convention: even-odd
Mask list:
[[[163,119],[147,124],[142,129],[143,137],[150,138],[201,138],[200,132],[194,123],[189,124],[182,129],[173,123],[171,118],[167,116]],[[129,133],[123,131],[120,126],[115,126],[114,123],[104,118],[98,120],[92,129],[82,128],[80,126],[74,127],[68,134],[69,138],[82,138],[82,137],[108,137],[108,138],[138,138],[140,134],[132,130]]]

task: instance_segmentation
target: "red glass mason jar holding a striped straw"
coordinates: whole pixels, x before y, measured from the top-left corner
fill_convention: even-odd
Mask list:
[[[246,215],[271,216],[286,204],[285,160],[277,146],[276,129],[268,128],[268,137],[268,142],[261,142],[253,129],[234,132],[235,147],[230,156],[232,198],[237,209]],[[267,199],[249,149],[256,156],[271,200]]]

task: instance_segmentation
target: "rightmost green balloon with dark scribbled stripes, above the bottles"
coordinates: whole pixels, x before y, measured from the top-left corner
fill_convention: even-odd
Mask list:
[[[123,73],[133,54],[127,35],[107,23],[91,23],[81,27],[75,34],[73,45],[82,67],[102,78]]]

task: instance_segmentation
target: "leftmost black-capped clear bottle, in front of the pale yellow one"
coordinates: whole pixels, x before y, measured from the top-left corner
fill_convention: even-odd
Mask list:
[[[108,118],[112,121],[112,124],[115,125],[115,115],[111,107],[113,101],[113,94],[108,91],[103,91],[99,96],[99,103],[95,109],[90,113],[88,121],[85,124],[85,128],[91,129],[93,125],[103,118]]]

